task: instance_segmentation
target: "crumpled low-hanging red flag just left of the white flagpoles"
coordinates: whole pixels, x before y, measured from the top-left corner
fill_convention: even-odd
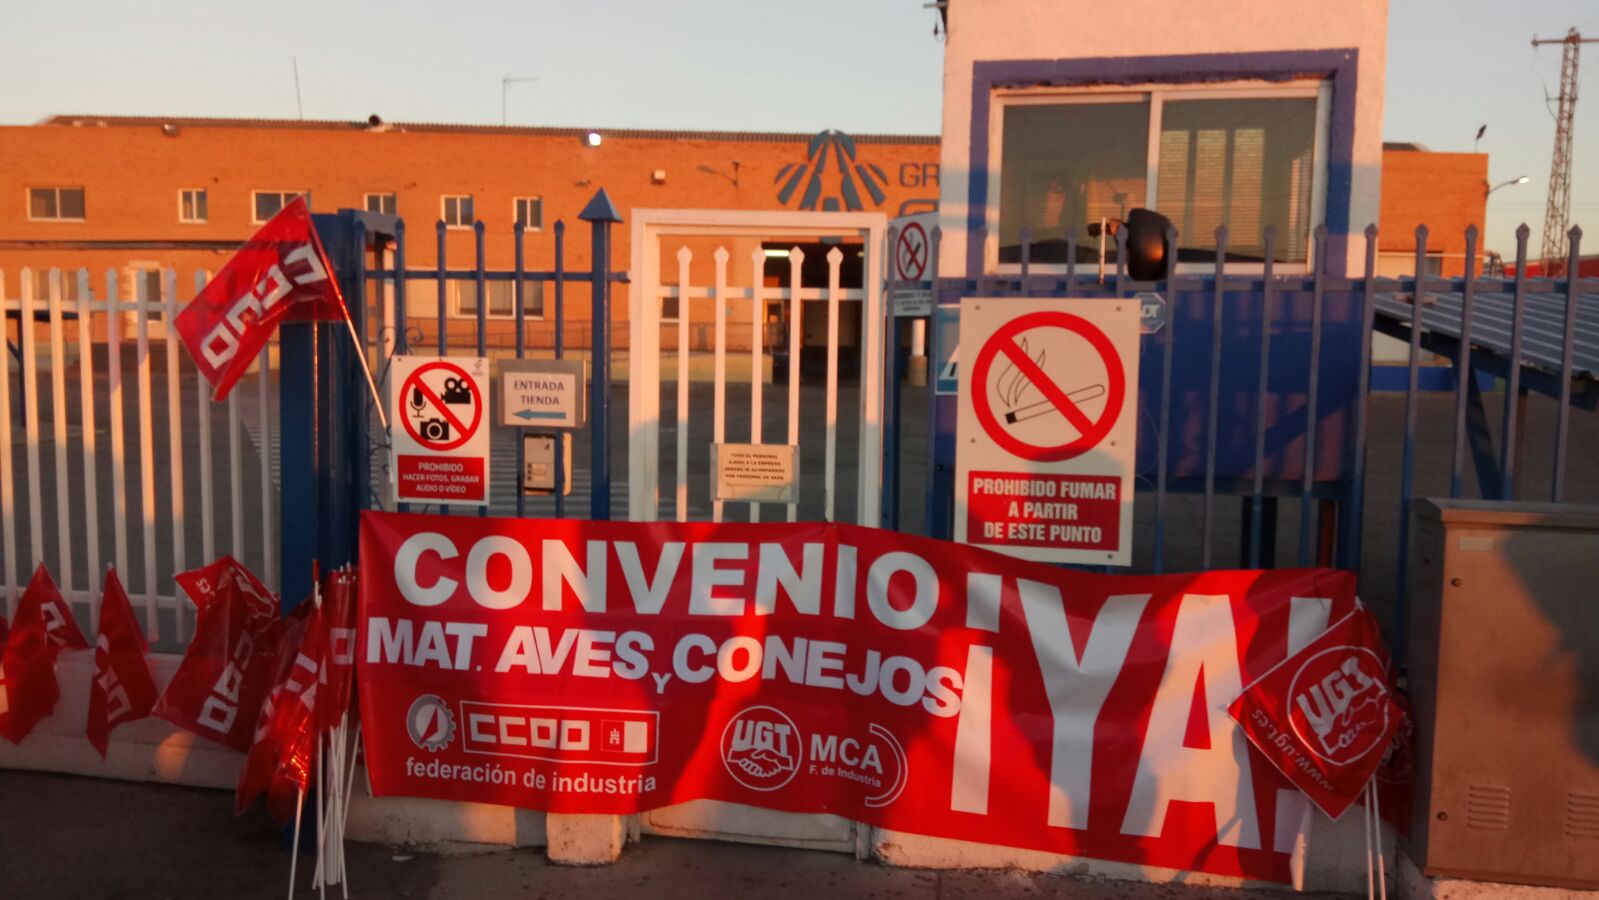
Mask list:
[[[302,606],[304,609],[304,606]],[[233,814],[267,793],[267,812],[294,817],[296,798],[310,783],[317,755],[318,695],[326,679],[328,617],[323,607],[289,627],[278,655],[278,679],[256,719],[254,745],[238,775]]]

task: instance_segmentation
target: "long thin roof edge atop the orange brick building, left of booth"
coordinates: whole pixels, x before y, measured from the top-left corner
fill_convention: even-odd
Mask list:
[[[301,128],[321,131],[411,131],[456,134],[520,134],[539,137],[584,137],[598,131],[606,137],[646,141],[809,141],[812,133],[801,131],[675,131],[652,128],[556,128],[531,125],[461,125],[440,121],[384,121],[371,117],[363,121],[307,120],[307,118],[208,118],[163,115],[51,115],[38,125],[77,128]],[[937,144],[937,134],[851,134],[857,144]]]

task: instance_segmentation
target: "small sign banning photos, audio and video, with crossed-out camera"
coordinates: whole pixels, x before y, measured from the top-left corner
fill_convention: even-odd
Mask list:
[[[395,500],[489,499],[489,361],[395,356],[389,403]]]

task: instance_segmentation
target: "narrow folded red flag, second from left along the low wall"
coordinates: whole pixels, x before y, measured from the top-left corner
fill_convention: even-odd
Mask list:
[[[155,679],[144,659],[149,646],[133,615],[133,604],[122,588],[117,569],[106,571],[101,595],[99,638],[94,641],[94,681],[90,683],[90,743],[106,758],[110,729],[150,715],[155,708]]]

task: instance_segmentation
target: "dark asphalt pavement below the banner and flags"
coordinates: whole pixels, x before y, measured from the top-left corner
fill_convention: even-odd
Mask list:
[[[254,900],[288,895],[289,857],[259,809],[224,791],[0,771],[5,900]],[[568,868],[542,847],[473,855],[350,844],[350,897],[417,900],[1241,900],[1337,894],[1142,884],[1022,871],[889,868],[846,854],[646,838],[616,865]],[[302,857],[294,897],[310,889]],[[337,889],[328,897],[342,897]]]

